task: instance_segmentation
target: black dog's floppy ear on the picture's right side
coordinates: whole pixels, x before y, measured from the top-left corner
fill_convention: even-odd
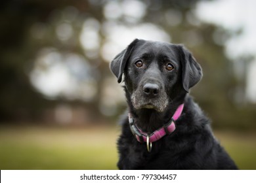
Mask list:
[[[192,54],[184,46],[179,46],[181,49],[182,85],[184,90],[188,92],[192,86],[200,81],[203,73],[201,66]]]

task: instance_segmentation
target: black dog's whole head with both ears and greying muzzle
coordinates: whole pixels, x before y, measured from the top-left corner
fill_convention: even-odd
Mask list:
[[[111,62],[110,69],[125,88],[135,109],[163,112],[202,78],[192,54],[179,44],[135,39]]]

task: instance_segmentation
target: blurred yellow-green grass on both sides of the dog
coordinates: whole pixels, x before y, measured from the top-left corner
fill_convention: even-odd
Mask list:
[[[114,127],[0,126],[0,169],[117,169]],[[215,131],[240,169],[256,169],[256,135]]]

